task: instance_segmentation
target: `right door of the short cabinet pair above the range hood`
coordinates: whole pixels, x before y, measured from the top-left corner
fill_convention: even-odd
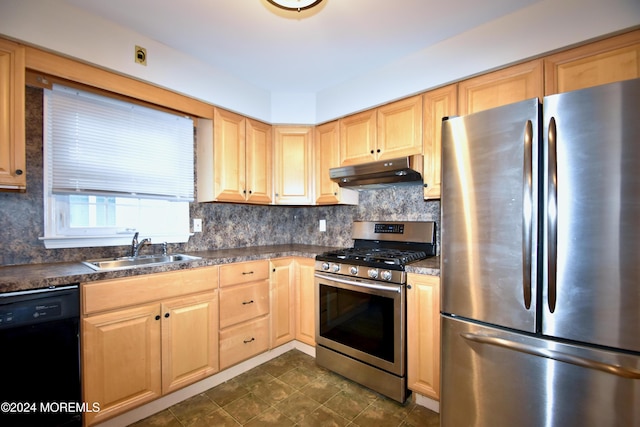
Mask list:
[[[377,110],[377,159],[422,153],[422,97],[413,96]]]

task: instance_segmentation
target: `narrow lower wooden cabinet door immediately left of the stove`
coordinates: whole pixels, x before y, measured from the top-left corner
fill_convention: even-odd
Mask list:
[[[296,280],[296,339],[311,346],[316,345],[316,298],[314,283],[315,261],[297,258]]]

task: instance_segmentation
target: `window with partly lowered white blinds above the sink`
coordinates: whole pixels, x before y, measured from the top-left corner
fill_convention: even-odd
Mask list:
[[[44,123],[47,248],[189,239],[191,119],[54,85]]]

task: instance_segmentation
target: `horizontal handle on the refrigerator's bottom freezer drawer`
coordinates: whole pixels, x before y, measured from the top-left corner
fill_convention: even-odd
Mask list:
[[[547,359],[571,363],[572,365],[588,369],[595,369],[623,378],[630,378],[634,380],[640,379],[640,370],[634,368],[626,368],[619,365],[610,365],[608,363],[599,362],[597,360],[587,359],[585,357],[575,356],[573,354],[551,350],[549,348],[535,347],[532,345],[510,341],[500,337],[479,335],[469,332],[463,332],[460,334],[460,336],[468,341],[477,342],[480,344],[494,345],[497,347],[506,348],[508,350],[531,354],[533,356],[546,357]]]

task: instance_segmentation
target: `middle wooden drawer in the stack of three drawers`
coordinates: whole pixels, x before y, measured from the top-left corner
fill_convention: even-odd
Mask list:
[[[220,289],[220,328],[269,313],[269,281]]]

